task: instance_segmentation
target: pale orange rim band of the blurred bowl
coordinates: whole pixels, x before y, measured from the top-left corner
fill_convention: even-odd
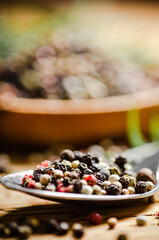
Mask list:
[[[89,115],[127,112],[159,106],[159,86],[135,93],[100,99],[56,100],[16,97],[11,93],[0,95],[0,111],[44,115]]]

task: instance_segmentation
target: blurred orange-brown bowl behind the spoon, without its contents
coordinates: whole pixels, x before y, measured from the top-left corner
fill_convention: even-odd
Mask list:
[[[25,99],[0,97],[0,136],[8,144],[48,146],[84,144],[104,137],[126,135],[127,113],[138,108],[144,132],[152,112],[159,109],[159,88],[92,100]]]

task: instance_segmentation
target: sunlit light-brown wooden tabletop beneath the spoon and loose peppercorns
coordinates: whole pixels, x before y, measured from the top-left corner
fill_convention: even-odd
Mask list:
[[[33,168],[33,164],[14,164],[13,172]],[[156,194],[156,203],[148,203],[147,200],[134,202],[129,205],[115,207],[81,207],[60,204],[51,201],[41,200],[28,196],[23,193],[11,191],[0,186],[0,216],[5,222],[16,219],[18,216],[35,216],[45,220],[55,217],[58,220],[81,222],[85,226],[85,234],[82,239],[117,239],[119,233],[127,233],[130,240],[157,240],[159,239],[159,225],[154,214],[159,211],[159,192]],[[90,226],[87,216],[91,212],[99,212],[103,216],[103,223],[98,226]],[[136,226],[136,216],[144,214],[147,216],[148,223],[144,227]],[[117,217],[119,222],[114,230],[109,230],[106,224],[108,217]],[[55,236],[51,234],[36,234],[29,239],[73,239],[70,231],[66,236]]]

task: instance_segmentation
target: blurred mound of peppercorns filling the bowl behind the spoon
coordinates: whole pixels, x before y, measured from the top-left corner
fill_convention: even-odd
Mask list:
[[[143,66],[111,60],[88,42],[81,35],[57,34],[34,52],[6,60],[0,64],[0,94],[97,99],[158,85],[158,76],[152,76]]]

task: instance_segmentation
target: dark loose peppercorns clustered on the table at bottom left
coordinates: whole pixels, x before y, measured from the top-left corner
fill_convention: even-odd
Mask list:
[[[39,221],[35,217],[20,217],[16,221],[7,224],[0,223],[0,238],[18,238],[27,239],[34,233],[56,234],[63,236],[71,229],[75,238],[81,238],[84,234],[83,226],[80,223],[74,223],[70,228],[67,222],[58,222],[51,218],[47,221]]]

